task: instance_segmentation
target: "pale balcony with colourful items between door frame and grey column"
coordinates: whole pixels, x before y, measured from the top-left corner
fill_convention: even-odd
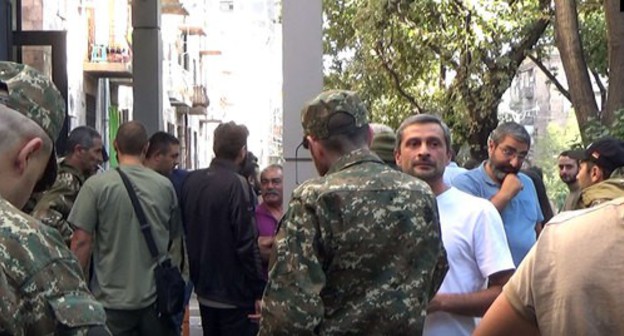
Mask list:
[[[132,78],[132,51],[91,45],[89,61],[84,62],[83,69],[95,78]]]

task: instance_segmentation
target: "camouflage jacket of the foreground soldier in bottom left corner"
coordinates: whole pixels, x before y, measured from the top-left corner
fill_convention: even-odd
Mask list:
[[[0,335],[86,335],[106,315],[61,236],[0,198]]]

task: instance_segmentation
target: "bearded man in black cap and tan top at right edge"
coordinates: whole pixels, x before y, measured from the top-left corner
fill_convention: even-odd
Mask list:
[[[569,156],[580,161],[576,178],[581,195],[575,209],[591,208],[624,196],[624,142],[603,137],[584,151],[571,151]]]

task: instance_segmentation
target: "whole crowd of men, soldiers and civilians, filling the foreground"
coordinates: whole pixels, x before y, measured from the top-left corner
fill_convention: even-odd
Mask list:
[[[158,307],[165,262],[205,335],[624,332],[619,139],[561,153],[555,215],[522,125],[498,125],[467,169],[440,117],[395,131],[328,90],[301,111],[319,177],[284,207],[283,167],[260,169],[243,125],[220,124],[213,161],[186,171],[178,139],[126,122],[102,171],[87,126],[57,162],[64,106],[45,76],[0,62],[0,334],[179,335],[182,312]]]

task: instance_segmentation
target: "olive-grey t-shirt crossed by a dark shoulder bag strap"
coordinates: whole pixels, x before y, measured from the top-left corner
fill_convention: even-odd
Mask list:
[[[143,166],[121,166],[134,185],[161,258],[182,233],[171,182]],[[139,309],[156,300],[154,266],[128,192],[115,170],[89,178],[68,221],[93,237],[95,298],[110,309]]]

